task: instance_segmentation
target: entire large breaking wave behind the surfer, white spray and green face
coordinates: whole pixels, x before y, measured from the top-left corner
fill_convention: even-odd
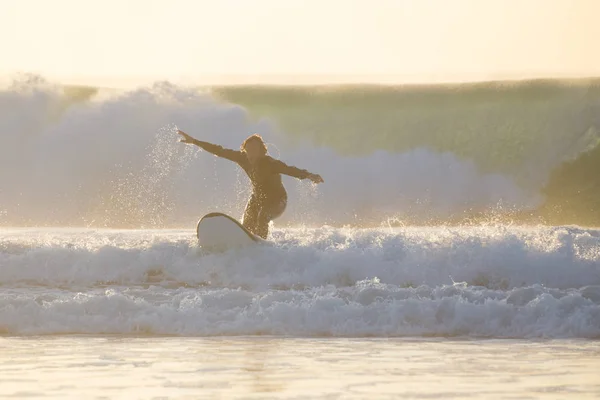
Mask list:
[[[318,187],[285,178],[282,225],[600,225],[600,80],[118,91],[33,76],[0,106],[0,225],[241,215],[245,175],[178,143],[178,128],[230,148],[258,132],[321,174]]]

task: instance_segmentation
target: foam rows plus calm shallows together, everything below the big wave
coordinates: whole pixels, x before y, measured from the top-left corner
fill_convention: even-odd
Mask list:
[[[597,398],[600,231],[0,231],[6,398]]]

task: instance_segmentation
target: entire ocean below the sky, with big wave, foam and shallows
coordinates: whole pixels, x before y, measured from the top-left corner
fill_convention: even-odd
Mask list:
[[[0,91],[0,396],[595,398],[600,230],[494,215],[539,206],[553,169],[596,148],[599,99],[594,82],[16,79]],[[177,128],[227,147],[259,132],[325,183],[285,178],[272,246],[205,253],[197,220],[240,216],[247,179]],[[490,217],[444,223],[473,212]]]

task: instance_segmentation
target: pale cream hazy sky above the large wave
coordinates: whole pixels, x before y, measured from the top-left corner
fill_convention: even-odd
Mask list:
[[[0,0],[0,73],[64,82],[600,76],[600,0]]]

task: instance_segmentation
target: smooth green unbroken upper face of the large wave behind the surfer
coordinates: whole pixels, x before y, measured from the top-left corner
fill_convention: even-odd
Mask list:
[[[451,86],[221,87],[297,141],[344,154],[427,147],[523,184],[598,142],[600,80]]]

